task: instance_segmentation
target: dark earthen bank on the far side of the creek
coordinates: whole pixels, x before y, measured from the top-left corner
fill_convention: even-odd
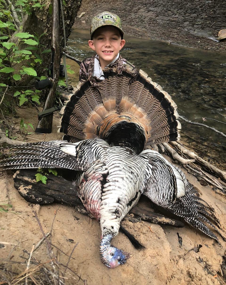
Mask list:
[[[218,42],[217,33],[226,28],[226,1],[100,1],[82,0],[74,28],[90,28],[92,17],[112,11],[123,21],[126,34],[171,44],[226,52],[226,41]]]

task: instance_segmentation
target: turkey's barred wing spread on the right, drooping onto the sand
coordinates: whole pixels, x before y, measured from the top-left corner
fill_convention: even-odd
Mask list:
[[[144,150],[140,156],[147,161],[147,182],[143,193],[145,196],[155,204],[182,217],[189,225],[217,242],[219,242],[218,237],[208,226],[225,240],[217,229],[220,229],[220,224],[214,209],[199,197],[198,191],[188,182],[179,168],[154,150]]]

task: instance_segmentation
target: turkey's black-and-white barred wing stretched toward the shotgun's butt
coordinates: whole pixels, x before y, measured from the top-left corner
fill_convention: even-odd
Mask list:
[[[9,158],[1,160],[3,169],[24,168],[66,168],[86,171],[92,162],[104,157],[109,145],[101,139],[91,139],[79,143],[49,141],[27,143],[0,149],[8,151]]]

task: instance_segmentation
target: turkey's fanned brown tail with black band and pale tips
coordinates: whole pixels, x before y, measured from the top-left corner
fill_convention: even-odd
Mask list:
[[[125,145],[140,153],[145,144],[179,139],[181,125],[177,121],[177,105],[161,86],[145,72],[135,74],[114,68],[104,70],[105,80],[93,86],[79,83],[62,109],[60,132],[63,139],[78,142],[101,138],[110,145]],[[131,133],[129,125],[136,131]],[[119,129],[123,133],[117,135]],[[120,138],[115,139],[115,137]],[[111,139],[113,141],[111,141]],[[142,141],[131,146],[131,141]]]

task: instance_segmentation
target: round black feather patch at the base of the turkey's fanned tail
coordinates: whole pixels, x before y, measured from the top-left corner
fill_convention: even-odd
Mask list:
[[[139,154],[144,149],[146,137],[144,129],[136,123],[121,121],[109,128],[105,140],[111,146],[125,146]]]

